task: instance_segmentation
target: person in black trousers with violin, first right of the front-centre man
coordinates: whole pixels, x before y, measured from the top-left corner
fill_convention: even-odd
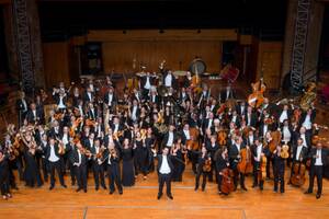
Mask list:
[[[197,158],[197,169],[196,169],[196,175],[195,175],[195,188],[194,191],[198,189],[200,185],[200,176],[202,175],[202,191],[205,191],[206,186],[206,177],[208,172],[204,170],[204,166],[206,165],[206,161],[212,162],[212,158],[208,155],[207,150],[205,147],[202,147],[201,153],[198,152],[198,158]]]

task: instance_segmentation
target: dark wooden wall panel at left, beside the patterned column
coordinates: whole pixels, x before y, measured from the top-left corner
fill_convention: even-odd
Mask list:
[[[47,88],[64,81],[70,83],[69,43],[56,42],[43,44],[44,72]]]

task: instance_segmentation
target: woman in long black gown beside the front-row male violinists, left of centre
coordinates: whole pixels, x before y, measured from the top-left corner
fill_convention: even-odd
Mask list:
[[[127,138],[122,147],[122,185],[133,186],[135,184],[134,152]]]

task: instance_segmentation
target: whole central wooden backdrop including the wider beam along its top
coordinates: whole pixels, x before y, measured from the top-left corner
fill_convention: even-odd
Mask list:
[[[205,61],[207,72],[218,72],[222,42],[237,41],[237,34],[235,30],[90,31],[87,41],[102,43],[105,73],[136,72],[140,66],[157,71],[163,59],[172,70],[188,70],[195,57]]]

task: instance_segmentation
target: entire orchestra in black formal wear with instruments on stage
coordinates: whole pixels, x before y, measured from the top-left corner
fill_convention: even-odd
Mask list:
[[[245,178],[250,176],[252,188],[262,191],[273,176],[274,192],[284,193],[287,166],[288,184],[298,187],[309,168],[306,193],[313,193],[317,177],[320,198],[328,141],[314,140],[319,126],[313,103],[271,103],[262,80],[252,83],[248,100],[236,100],[230,83],[217,95],[197,72],[196,81],[191,72],[181,80],[161,67],[160,74],[144,72],[137,84],[123,89],[106,77],[104,82],[75,82],[69,89],[61,82],[53,95],[42,90],[30,103],[21,92],[19,125],[8,125],[0,148],[3,199],[18,189],[15,169],[30,187],[50,178],[52,191],[58,178],[66,188],[64,176],[69,173],[76,191],[87,193],[92,173],[95,191],[107,189],[107,180],[110,194],[117,189],[121,195],[139,175],[147,181],[157,170],[158,199],[164,183],[172,199],[171,182],[183,182],[184,174],[195,174],[195,191],[201,176],[202,191],[213,182],[224,195],[238,185],[247,192]],[[223,76],[232,81],[236,71],[229,67]],[[191,173],[184,173],[188,168]]]

